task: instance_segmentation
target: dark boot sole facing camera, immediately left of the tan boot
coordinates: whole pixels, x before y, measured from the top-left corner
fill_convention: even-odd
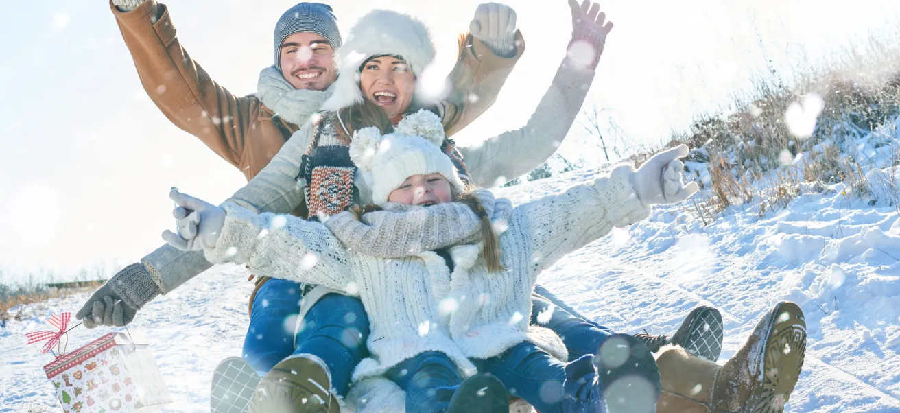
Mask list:
[[[608,337],[596,362],[609,413],[656,411],[660,371],[643,341],[626,334]]]

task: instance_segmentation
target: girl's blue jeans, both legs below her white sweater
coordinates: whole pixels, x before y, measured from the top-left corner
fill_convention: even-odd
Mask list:
[[[541,413],[561,412],[565,364],[531,343],[520,343],[501,355],[473,359],[482,373],[491,373],[509,394],[519,396]],[[427,352],[405,360],[385,374],[406,391],[407,413],[445,411],[462,378],[443,353]]]

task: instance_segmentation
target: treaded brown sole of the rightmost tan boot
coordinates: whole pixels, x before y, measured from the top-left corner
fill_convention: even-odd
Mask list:
[[[753,391],[743,412],[781,413],[806,356],[806,319],[793,302],[782,302],[770,319],[769,336],[762,349],[761,389]]]

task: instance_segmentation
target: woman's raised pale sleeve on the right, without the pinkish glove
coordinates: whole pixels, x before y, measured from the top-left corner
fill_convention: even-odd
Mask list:
[[[524,127],[459,148],[474,184],[490,188],[501,176],[511,181],[552,157],[578,116],[593,79],[594,71],[563,58],[553,83]]]

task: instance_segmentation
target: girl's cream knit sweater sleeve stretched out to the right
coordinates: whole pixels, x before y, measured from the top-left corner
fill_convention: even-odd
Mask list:
[[[523,264],[537,274],[566,254],[606,236],[613,227],[644,220],[650,208],[637,199],[628,181],[633,171],[632,166],[617,166],[608,177],[593,183],[519,205],[501,242],[505,237],[524,238],[531,254],[515,256],[527,260]]]

